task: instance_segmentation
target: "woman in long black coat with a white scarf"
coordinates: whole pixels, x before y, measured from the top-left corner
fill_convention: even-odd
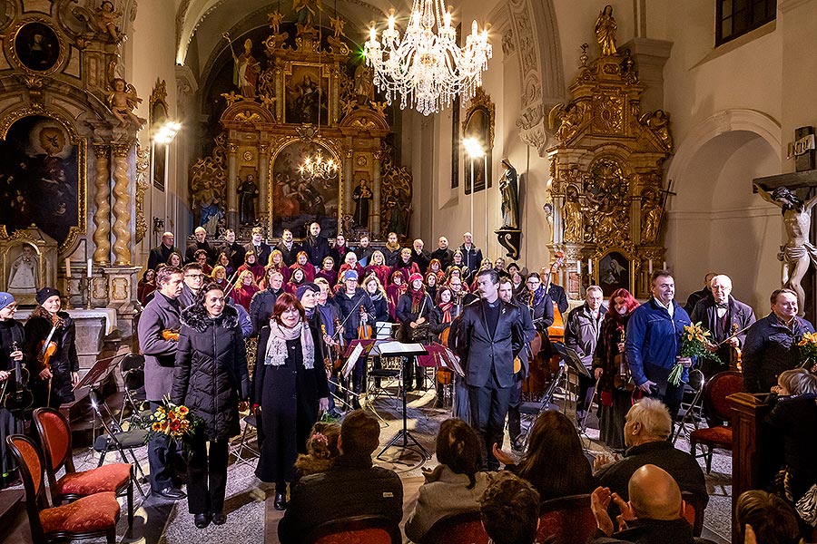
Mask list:
[[[252,403],[261,406],[264,441],[255,474],[275,482],[276,510],[287,506],[286,484],[295,480],[295,460],[318,411],[329,409],[320,330],[307,321],[295,296],[275,301],[270,325],[261,329],[253,375]]]

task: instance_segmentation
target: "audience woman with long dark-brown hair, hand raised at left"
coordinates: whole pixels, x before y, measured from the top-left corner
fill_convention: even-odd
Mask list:
[[[494,455],[507,470],[531,482],[542,500],[589,493],[596,486],[576,427],[564,413],[539,415],[530,431],[527,452],[517,466],[496,444]]]

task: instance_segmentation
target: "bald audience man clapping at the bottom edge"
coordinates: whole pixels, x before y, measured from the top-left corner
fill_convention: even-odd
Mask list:
[[[630,500],[625,502],[610,488],[599,487],[590,495],[590,507],[598,530],[590,542],[613,544],[694,544],[692,526],[684,518],[681,489],[667,471],[646,464],[633,474],[628,484]],[[621,511],[616,518],[619,531],[607,513],[610,503]]]

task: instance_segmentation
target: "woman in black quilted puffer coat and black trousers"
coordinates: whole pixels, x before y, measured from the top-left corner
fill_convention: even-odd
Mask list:
[[[171,402],[202,419],[190,439],[187,500],[196,527],[204,529],[211,520],[227,520],[228,447],[240,432],[239,400],[250,396],[250,378],[238,312],[226,304],[219,284],[203,287],[196,303],[182,310],[181,322]]]

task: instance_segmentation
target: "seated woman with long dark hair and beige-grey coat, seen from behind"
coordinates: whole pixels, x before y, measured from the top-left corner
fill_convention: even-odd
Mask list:
[[[489,476],[482,466],[477,432],[468,423],[448,419],[437,435],[434,471],[424,472],[426,482],[419,488],[414,511],[406,522],[406,536],[419,542],[437,520],[460,512],[478,510],[478,500],[486,490]]]

